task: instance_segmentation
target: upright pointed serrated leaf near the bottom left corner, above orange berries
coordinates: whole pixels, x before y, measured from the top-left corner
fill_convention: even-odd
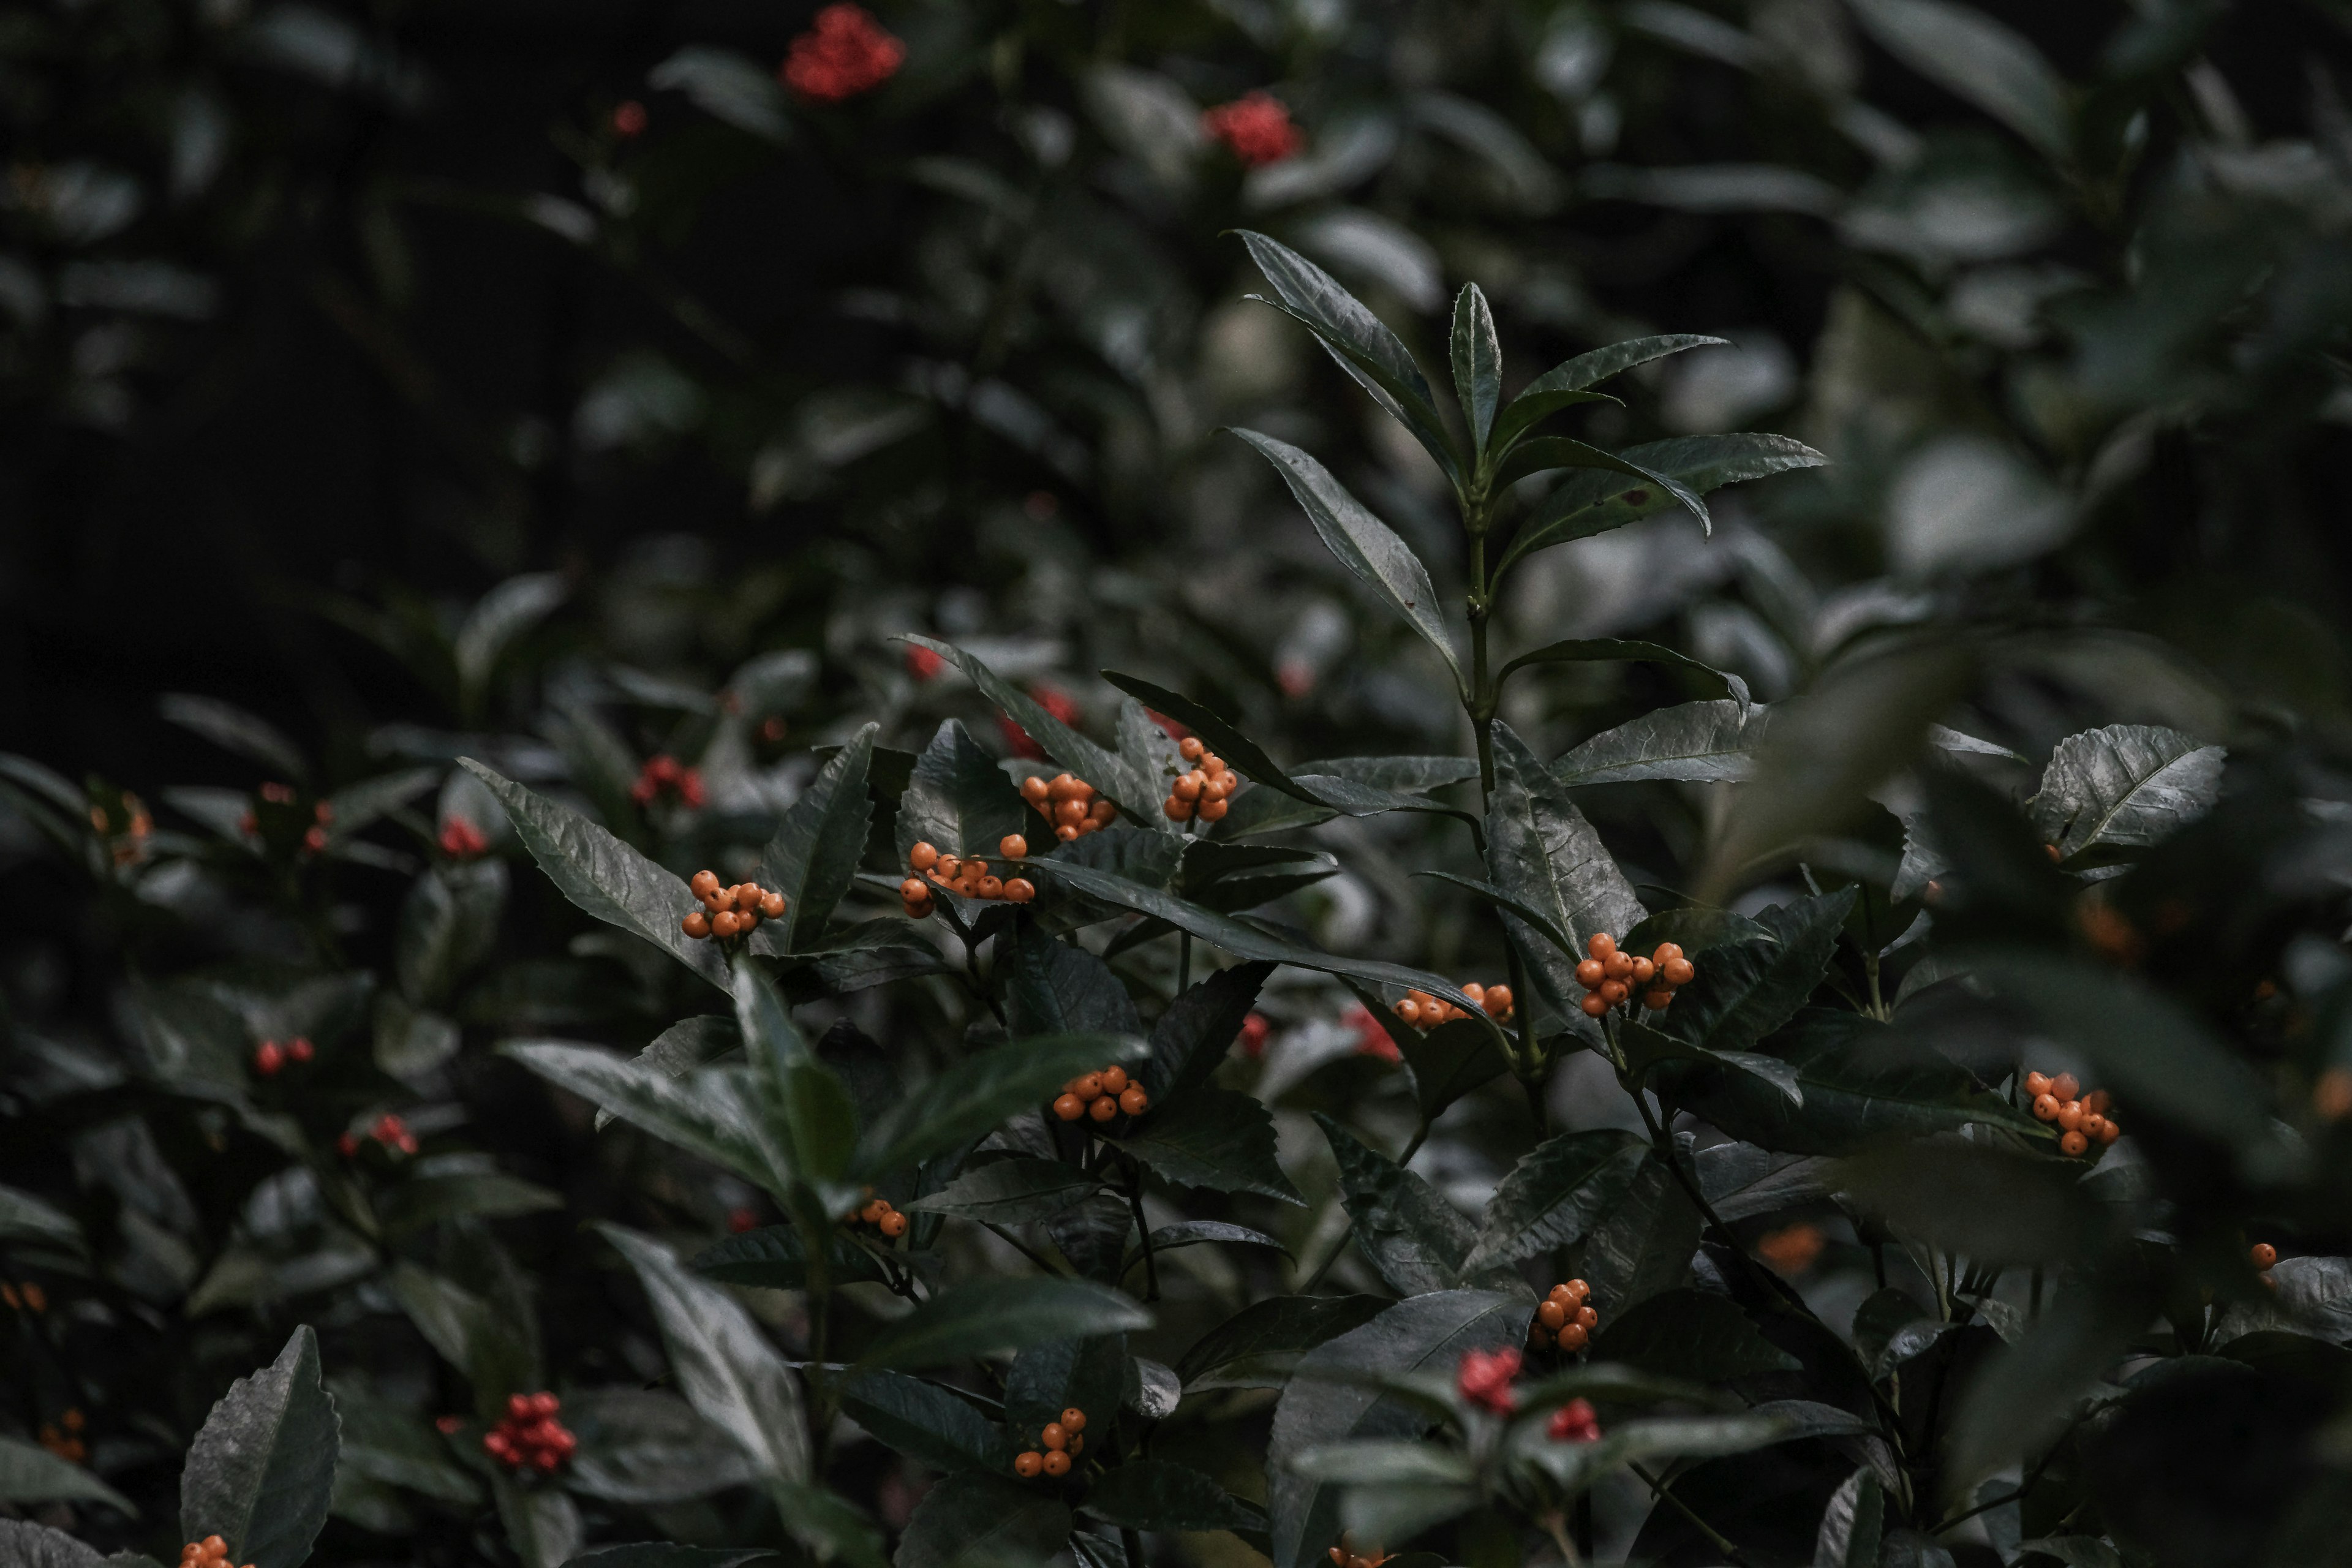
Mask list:
[[[219,1535],[233,1563],[299,1568],[327,1526],[339,1448],[306,1324],[270,1366],[228,1385],[198,1429],[179,1474],[181,1537]]]

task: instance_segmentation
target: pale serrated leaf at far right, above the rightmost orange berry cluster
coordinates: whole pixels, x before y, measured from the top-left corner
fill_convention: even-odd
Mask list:
[[[2110,724],[2067,736],[2030,804],[2034,832],[2060,860],[2117,844],[2157,844],[2220,797],[2225,752],[2178,729]]]

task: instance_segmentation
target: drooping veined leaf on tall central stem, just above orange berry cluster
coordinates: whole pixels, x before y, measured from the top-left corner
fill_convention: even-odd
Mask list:
[[[1628,931],[1646,914],[1592,823],[1503,722],[1494,724],[1486,877],[1538,912],[1543,926],[1573,943],[1562,952],[1557,936],[1543,945],[1522,938],[1526,957],[1562,1009],[1583,992],[1576,964],[1585,943],[1595,933]],[[1505,929],[1517,924],[1515,917],[1503,917]]]

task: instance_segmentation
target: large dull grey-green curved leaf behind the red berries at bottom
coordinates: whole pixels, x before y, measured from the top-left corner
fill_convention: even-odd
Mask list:
[[[1362,1328],[1308,1352],[1275,1406],[1265,1453],[1275,1568],[1310,1568],[1341,1533],[1341,1488],[1291,1469],[1310,1448],[1348,1439],[1418,1439],[1432,1418],[1348,1373],[1451,1373],[1463,1352],[1526,1338],[1534,1305],[1491,1291],[1435,1291],[1402,1300]],[[1312,1375],[1324,1373],[1324,1375]],[[1336,1373],[1336,1375],[1334,1375]]]

